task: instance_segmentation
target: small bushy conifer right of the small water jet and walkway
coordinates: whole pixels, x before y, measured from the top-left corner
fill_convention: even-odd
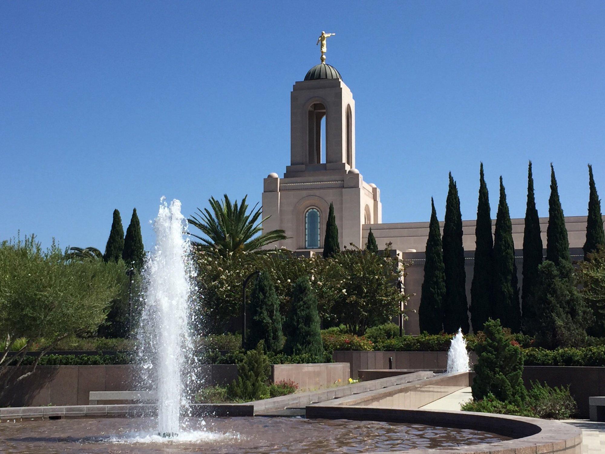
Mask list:
[[[477,343],[476,377],[473,398],[481,400],[490,393],[498,400],[521,406],[527,397],[523,386],[523,351],[511,344],[499,320],[483,325],[485,342]]]

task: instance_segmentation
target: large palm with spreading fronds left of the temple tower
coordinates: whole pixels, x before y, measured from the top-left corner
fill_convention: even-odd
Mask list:
[[[227,194],[224,200],[211,197],[210,208],[198,208],[197,214],[188,219],[189,224],[206,235],[206,237],[190,233],[201,240],[197,246],[211,254],[229,257],[239,252],[260,252],[263,246],[286,239],[286,232],[281,229],[264,232],[261,224],[269,216],[261,219],[262,207],[257,205],[248,212],[246,197],[238,205],[237,200],[231,203]]]

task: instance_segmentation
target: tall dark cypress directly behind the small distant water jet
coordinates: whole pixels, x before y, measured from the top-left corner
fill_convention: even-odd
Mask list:
[[[466,300],[466,271],[462,246],[462,214],[458,188],[450,172],[450,188],[445,202],[443,223],[443,266],[445,269],[445,301],[443,329],[453,333],[462,328],[468,333],[468,301]]]

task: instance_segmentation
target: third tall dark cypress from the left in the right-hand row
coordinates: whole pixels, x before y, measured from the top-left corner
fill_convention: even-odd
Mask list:
[[[482,331],[483,324],[491,315],[493,294],[492,270],[494,267],[494,239],[491,230],[488,186],[483,175],[483,163],[479,168],[479,203],[475,226],[475,263],[471,284],[471,321],[473,331]]]

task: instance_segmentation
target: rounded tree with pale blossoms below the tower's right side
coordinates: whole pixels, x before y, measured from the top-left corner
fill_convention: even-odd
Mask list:
[[[399,314],[407,295],[400,293],[395,283],[404,270],[397,258],[390,257],[390,245],[384,257],[356,248],[326,262],[320,287],[335,294],[331,308],[335,323],[344,324],[352,334],[363,335],[368,327]]]

